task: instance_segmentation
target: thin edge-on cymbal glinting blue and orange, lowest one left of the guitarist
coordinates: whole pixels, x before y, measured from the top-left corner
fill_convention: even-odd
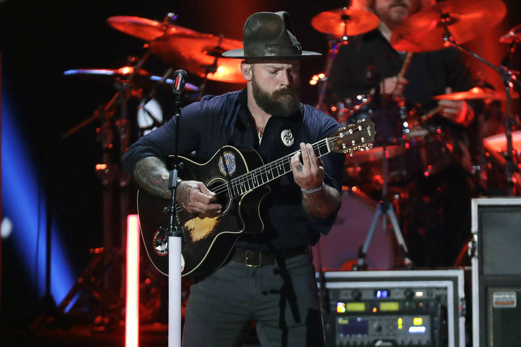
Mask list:
[[[126,81],[134,72],[131,66],[124,66],[119,69],[72,69],[64,71],[64,75],[79,75],[90,80],[100,80],[103,82],[114,82],[117,79]],[[133,77],[133,82],[140,87],[152,87],[162,79],[161,76],[154,76],[143,69],[139,69]],[[164,84],[172,85],[172,79],[166,79]],[[197,92],[199,88],[187,83],[184,89],[189,92]]]

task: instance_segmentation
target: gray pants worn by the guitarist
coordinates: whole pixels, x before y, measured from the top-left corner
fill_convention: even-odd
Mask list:
[[[192,285],[183,346],[240,345],[239,333],[252,321],[264,347],[324,346],[311,254],[261,267],[231,261]]]

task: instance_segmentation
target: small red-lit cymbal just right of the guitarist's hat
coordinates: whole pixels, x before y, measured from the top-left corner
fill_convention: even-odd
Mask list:
[[[334,37],[359,35],[378,27],[380,19],[371,12],[353,8],[338,8],[320,12],[313,17],[311,25],[315,30]]]

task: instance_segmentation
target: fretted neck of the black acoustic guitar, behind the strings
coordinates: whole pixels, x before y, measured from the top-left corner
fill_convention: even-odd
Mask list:
[[[328,138],[313,144],[313,150],[318,158],[331,152],[330,146],[328,146]],[[300,150],[233,178],[230,182],[231,195],[233,197],[241,196],[287,174],[291,171],[291,157],[297,152],[300,152]]]

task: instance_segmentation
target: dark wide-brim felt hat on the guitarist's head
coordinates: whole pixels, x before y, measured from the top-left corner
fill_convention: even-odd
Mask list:
[[[237,59],[298,59],[321,56],[302,50],[288,12],[257,12],[244,23],[243,47],[222,53]]]

